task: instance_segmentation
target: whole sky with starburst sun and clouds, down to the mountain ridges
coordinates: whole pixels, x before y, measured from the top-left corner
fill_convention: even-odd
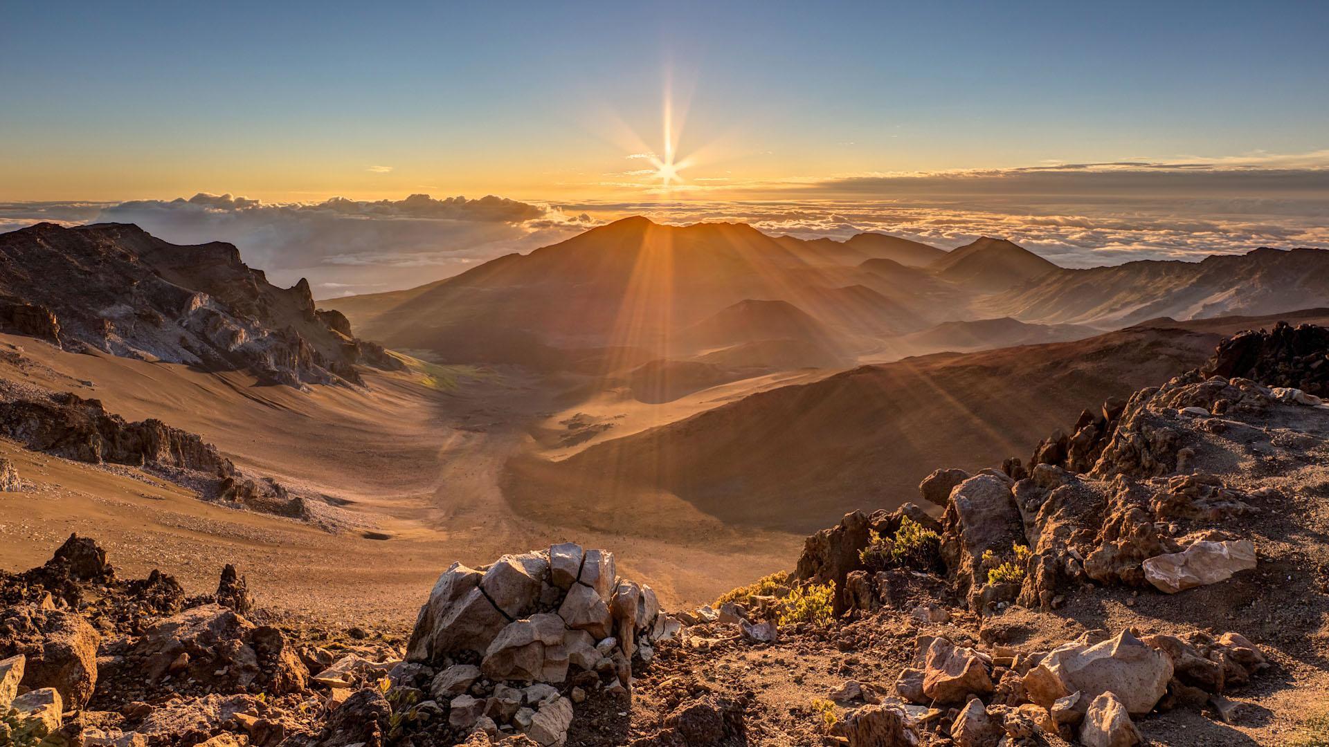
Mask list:
[[[4,17],[0,229],[149,214],[330,294],[371,287],[343,280],[377,253],[432,279],[627,213],[942,246],[1007,229],[1070,265],[1324,241],[1325,3],[9,0]],[[465,207],[486,195],[530,210]],[[316,257],[292,233],[352,218],[433,223],[359,226]]]

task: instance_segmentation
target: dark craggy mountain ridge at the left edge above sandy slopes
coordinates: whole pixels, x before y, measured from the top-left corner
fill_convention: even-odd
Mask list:
[[[77,350],[245,370],[291,385],[400,367],[351,334],[310,284],[278,288],[234,245],[177,246],[137,226],[53,223],[0,234],[0,330]]]

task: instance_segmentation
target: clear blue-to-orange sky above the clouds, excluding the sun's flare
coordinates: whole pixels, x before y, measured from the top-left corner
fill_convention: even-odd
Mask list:
[[[1325,3],[280,5],[8,3],[0,198],[609,195],[666,77],[734,185],[1329,149]]]

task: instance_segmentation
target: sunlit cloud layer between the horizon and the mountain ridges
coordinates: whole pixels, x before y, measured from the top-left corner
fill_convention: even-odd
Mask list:
[[[944,249],[1009,238],[1066,267],[1329,247],[1329,170],[1146,162],[785,182],[776,199],[537,203],[484,197],[264,203],[230,194],[120,203],[0,203],[0,231],[130,222],[175,243],[226,241],[272,282],[331,298],[412,287],[631,214],[746,222],[772,234],[894,234]]]

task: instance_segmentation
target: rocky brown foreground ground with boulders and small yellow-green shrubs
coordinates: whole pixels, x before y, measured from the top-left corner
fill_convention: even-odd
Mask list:
[[[1329,330],[1237,335],[695,610],[561,544],[328,630],[70,537],[0,574],[0,743],[1322,743],[1326,370]]]

